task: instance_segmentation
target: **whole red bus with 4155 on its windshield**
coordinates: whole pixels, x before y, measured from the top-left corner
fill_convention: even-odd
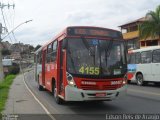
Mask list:
[[[39,90],[63,101],[113,100],[126,90],[126,50],[119,31],[67,27],[35,52]]]

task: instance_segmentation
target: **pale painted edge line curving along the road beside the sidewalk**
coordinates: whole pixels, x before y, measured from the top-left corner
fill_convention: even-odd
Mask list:
[[[47,115],[52,119],[52,120],[56,120],[52,115],[51,113],[47,110],[47,108],[43,105],[43,103],[41,103],[38,98],[34,95],[34,93],[31,91],[31,89],[28,87],[28,85],[26,84],[26,81],[25,81],[25,76],[24,76],[24,73],[23,74],[23,82],[27,88],[27,90],[31,93],[31,95],[34,97],[34,99],[40,104],[40,106],[44,109],[44,111],[47,113]]]

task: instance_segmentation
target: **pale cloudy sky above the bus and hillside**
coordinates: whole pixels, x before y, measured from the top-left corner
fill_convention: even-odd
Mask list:
[[[120,30],[118,26],[138,18],[160,5],[160,0],[0,0],[15,4],[3,8],[8,31],[3,41],[36,46],[51,40],[67,26],[97,26]],[[0,22],[5,27],[2,13]],[[24,23],[27,20],[31,22]],[[24,23],[24,24],[23,24]],[[2,34],[2,38],[6,34]]]

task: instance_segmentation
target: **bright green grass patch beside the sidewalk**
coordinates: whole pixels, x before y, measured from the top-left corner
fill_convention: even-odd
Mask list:
[[[8,75],[4,78],[3,81],[0,81],[0,113],[2,112],[2,110],[4,110],[5,103],[8,98],[9,89],[15,77],[16,75]]]

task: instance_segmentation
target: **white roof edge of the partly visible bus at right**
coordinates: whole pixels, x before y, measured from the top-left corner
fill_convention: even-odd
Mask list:
[[[136,49],[136,50],[129,50],[128,52],[134,53],[134,52],[143,52],[143,51],[156,50],[156,49],[160,49],[160,46],[145,47],[145,48],[140,48],[140,49]]]

